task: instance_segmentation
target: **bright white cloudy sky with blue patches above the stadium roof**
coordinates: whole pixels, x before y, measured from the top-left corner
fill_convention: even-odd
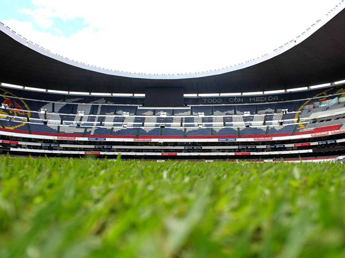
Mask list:
[[[102,68],[201,72],[295,39],[340,0],[1,0],[0,19],[53,53]]]

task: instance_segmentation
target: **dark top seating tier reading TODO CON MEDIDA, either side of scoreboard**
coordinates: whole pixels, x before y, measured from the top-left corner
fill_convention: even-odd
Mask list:
[[[7,92],[7,93],[6,93]],[[287,101],[302,101],[311,98],[323,98],[325,96],[337,95],[344,93],[344,85],[333,85],[314,90],[304,90],[298,92],[285,92],[277,94],[259,94],[259,95],[234,95],[234,96],[215,96],[215,97],[184,97],[184,104],[188,105],[217,105],[220,109],[226,109],[221,105],[241,105],[241,104],[266,104],[272,109],[273,103]],[[0,95],[16,96],[27,100],[43,100],[51,102],[66,103],[86,103],[86,104],[108,104],[108,105],[140,105],[145,104],[145,97],[137,96],[92,96],[92,95],[73,95],[73,94],[55,94],[50,92],[38,92],[30,90],[18,90],[9,87],[0,87]],[[271,103],[271,104],[269,104]],[[295,102],[292,102],[295,103]],[[284,107],[285,104],[278,104]],[[294,107],[288,107],[293,111]],[[248,105],[246,105],[248,106]],[[249,106],[250,107],[250,106]],[[251,106],[253,108],[253,106]],[[263,107],[263,106],[260,106]],[[297,107],[298,108],[298,107]],[[156,108],[158,109],[158,108]],[[163,107],[162,109],[166,109]],[[209,108],[207,108],[209,109]],[[240,109],[240,107],[239,107]],[[215,110],[215,112],[217,112]]]

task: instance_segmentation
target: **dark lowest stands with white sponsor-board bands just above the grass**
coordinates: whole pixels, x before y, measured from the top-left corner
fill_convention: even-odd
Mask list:
[[[218,141],[218,142],[149,142],[149,141],[107,141],[109,139],[43,139],[28,138],[27,135],[0,136],[0,152],[10,155],[31,155],[49,157],[116,158],[121,154],[126,159],[196,159],[196,160],[249,160],[263,161],[290,159],[319,159],[320,157],[342,157],[345,153],[345,134],[296,136],[290,141],[283,139],[272,142]],[[114,140],[114,139],[110,139]],[[119,140],[119,139],[115,139]],[[180,139],[179,139],[180,140]],[[187,139],[181,139],[187,140]],[[194,139],[193,139],[194,140]],[[248,140],[246,138],[245,140]],[[339,158],[340,159],[340,158]]]

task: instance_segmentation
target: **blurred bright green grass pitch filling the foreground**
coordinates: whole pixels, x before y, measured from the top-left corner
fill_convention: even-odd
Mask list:
[[[344,257],[345,165],[0,157],[0,257]]]

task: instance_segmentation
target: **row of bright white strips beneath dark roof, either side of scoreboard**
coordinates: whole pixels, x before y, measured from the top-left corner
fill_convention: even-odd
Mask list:
[[[184,96],[185,97],[217,97],[217,96],[249,96],[249,95],[276,94],[276,93],[286,93],[286,92],[296,92],[296,91],[318,89],[322,87],[328,87],[331,85],[340,85],[344,83],[345,83],[345,80],[332,82],[332,83],[313,85],[309,87],[298,87],[298,88],[293,88],[293,89],[286,89],[286,90],[238,92],[238,93],[199,93],[199,94],[184,94]],[[49,92],[49,93],[58,93],[58,94],[70,94],[70,95],[145,97],[145,94],[142,94],[142,93],[100,93],[100,92],[58,91],[58,90],[47,90],[47,89],[40,89],[40,88],[28,87],[28,86],[19,86],[19,85],[14,85],[14,84],[9,84],[9,83],[1,83],[1,86],[15,88],[15,89],[22,89],[22,90]]]

